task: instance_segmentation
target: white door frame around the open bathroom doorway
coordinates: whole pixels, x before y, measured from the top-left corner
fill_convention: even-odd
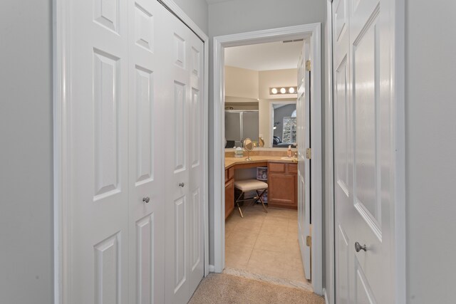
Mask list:
[[[311,127],[312,147],[312,285],[314,292],[323,294],[323,234],[322,234],[322,159],[321,127],[321,23],[273,28],[263,31],[236,33],[214,37],[214,271],[224,269],[224,48],[311,37]]]

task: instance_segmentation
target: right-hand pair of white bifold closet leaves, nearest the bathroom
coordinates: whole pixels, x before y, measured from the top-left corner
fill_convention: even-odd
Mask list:
[[[170,66],[165,88],[166,300],[187,303],[203,277],[203,43],[177,19],[162,28]]]

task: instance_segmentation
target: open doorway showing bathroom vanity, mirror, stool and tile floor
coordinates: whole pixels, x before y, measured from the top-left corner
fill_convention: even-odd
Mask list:
[[[297,65],[305,42],[301,38],[224,50],[225,271],[309,288],[298,241],[293,157]],[[249,161],[247,155],[235,157],[246,154],[246,138],[255,144]],[[248,191],[246,182],[268,188]]]

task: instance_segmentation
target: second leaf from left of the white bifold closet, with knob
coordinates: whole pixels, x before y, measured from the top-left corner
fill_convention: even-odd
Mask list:
[[[164,8],[155,1],[128,1],[129,48],[129,303],[162,303],[165,268],[165,180],[161,172],[165,154],[161,144],[160,88],[166,66],[158,58],[164,51]],[[149,199],[147,201],[147,198]]]

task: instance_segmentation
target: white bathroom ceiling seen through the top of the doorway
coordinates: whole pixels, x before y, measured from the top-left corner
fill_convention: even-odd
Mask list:
[[[217,0],[210,0],[217,1]],[[225,48],[225,65],[249,70],[296,68],[303,41],[271,42]]]

